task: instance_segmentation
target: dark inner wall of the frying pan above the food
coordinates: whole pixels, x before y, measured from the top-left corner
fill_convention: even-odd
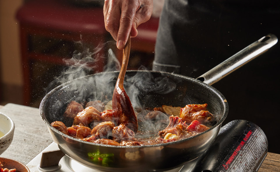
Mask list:
[[[64,118],[67,104],[92,100],[112,100],[118,72],[105,72],[69,81],[48,93],[42,101],[43,116],[49,123],[62,121],[71,125],[73,121]],[[169,105],[184,107],[186,104],[207,103],[207,109],[214,114],[218,123],[227,111],[224,97],[213,87],[184,77],[164,72],[127,71],[124,83],[126,93],[135,111]]]

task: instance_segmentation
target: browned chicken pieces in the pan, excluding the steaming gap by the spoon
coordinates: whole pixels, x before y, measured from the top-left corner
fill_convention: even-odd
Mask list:
[[[143,116],[143,119],[155,121],[154,119],[164,113],[163,115],[170,116],[169,124],[167,125],[166,121],[167,127],[157,130],[159,131],[157,138],[143,140],[135,138],[135,132],[128,126],[117,125],[119,119],[114,116],[112,109],[106,108],[107,105],[96,100],[88,102],[86,108],[81,109],[82,104],[72,101],[68,104],[64,117],[72,118],[73,125],[66,127],[60,121],[54,121],[51,125],[60,132],[82,141],[114,146],[142,146],[189,138],[208,130],[208,126],[215,120],[207,111],[207,104],[188,104],[183,108],[166,105],[155,107],[153,111]],[[73,113],[76,112],[74,116]]]

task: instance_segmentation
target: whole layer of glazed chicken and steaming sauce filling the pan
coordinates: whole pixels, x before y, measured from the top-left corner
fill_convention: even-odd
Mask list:
[[[73,101],[70,104],[73,104]],[[78,104],[67,108],[75,109],[76,105]],[[163,105],[153,107],[153,110],[139,109],[136,112],[135,123],[139,125],[136,133],[133,131],[136,128],[131,127],[133,126],[131,120],[127,119],[128,116],[116,116],[113,108],[105,110],[103,105],[102,109],[104,110],[100,112],[95,107],[86,107],[72,118],[72,126],[66,127],[61,121],[54,121],[51,125],[60,132],[83,141],[142,146],[186,139],[208,130],[216,122],[214,116],[207,110],[207,104],[188,104],[183,108]],[[70,117],[66,118],[71,120]]]

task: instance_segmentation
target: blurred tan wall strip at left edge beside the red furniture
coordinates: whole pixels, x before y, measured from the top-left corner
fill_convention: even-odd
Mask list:
[[[0,1],[0,101],[23,104],[19,24],[15,18],[24,0]]]

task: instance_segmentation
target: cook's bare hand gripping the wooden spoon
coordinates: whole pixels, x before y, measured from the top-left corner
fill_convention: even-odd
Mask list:
[[[124,49],[128,36],[138,34],[137,27],[147,22],[153,11],[153,0],[105,0],[103,6],[105,28]]]

